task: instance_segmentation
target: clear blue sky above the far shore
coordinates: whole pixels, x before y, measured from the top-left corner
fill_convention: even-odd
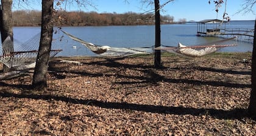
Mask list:
[[[40,1],[34,0],[35,5],[32,5],[32,9],[41,9]],[[90,1],[90,0],[89,0]],[[69,11],[79,11],[84,12],[95,11],[98,13],[126,13],[126,12],[137,12],[143,13],[145,11],[154,9],[154,5],[148,5],[141,3],[140,0],[91,0],[92,4],[96,7],[87,6],[87,7],[77,7],[76,4],[66,6],[66,10]],[[152,0],[151,0],[152,1]],[[163,4],[167,0],[160,0],[160,4]],[[174,20],[178,21],[179,19],[187,19],[187,21],[200,21],[202,19],[222,19],[222,15],[225,10],[225,4],[219,8],[219,13],[215,12],[214,0],[211,0],[212,4],[208,4],[208,0],[174,0],[169,2],[163,7],[161,15],[171,15],[174,16]],[[224,0],[225,1],[225,0]],[[242,9],[244,0],[227,0],[226,13],[232,20],[254,20],[256,15],[253,13],[236,13]],[[38,4],[39,3],[39,4]],[[252,9],[256,13],[256,7]]]

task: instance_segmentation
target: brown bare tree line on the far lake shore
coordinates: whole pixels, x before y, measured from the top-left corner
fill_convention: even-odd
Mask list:
[[[12,13],[14,26],[40,26],[41,11],[16,10]],[[186,19],[174,22],[170,15],[160,16],[161,24],[185,23]],[[152,25],[155,24],[154,13],[97,13],[66,12],[55,13],[55,26],[90,26],[90,25]]]

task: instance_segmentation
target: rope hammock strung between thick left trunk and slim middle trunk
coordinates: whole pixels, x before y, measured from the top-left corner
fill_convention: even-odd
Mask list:
[[[61,30],[61,29],[60,29]],[[101,56],[130,56],[135,54],[150,54],[152,53],[152,47],[137,47],[137,48],[119,48],[119,47],[110,47],[110,46],[98,46],[90,42],[84,41],[61,30],[63,33],[69,36],[69,38],[74,41],[80,42],[83,46],[90,49],[92,52],[101,55]]]

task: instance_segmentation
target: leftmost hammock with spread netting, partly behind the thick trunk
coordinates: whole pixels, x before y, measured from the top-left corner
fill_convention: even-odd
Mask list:
[[[29,39],[29,41],[24,42],[24,44],[20,44],[20,42],[17,42],[16,40],[14,41],[15,42],[8,36],[4,42],[2,42],[2,50],[0,49],[0,63],[15,70],[34,68],[39,49],[40,34]],[[52,43],[52,47],[55,47],[54,45],[55,44]],[[61,51],[61,49],[52,48],[50,57],[57,55],[57,53]]]

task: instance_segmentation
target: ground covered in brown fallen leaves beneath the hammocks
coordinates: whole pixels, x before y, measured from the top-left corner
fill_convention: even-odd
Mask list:
[[[32,73],[0,81],[0,135],[256,135],[251,53],[153,62],[55,58],[43,91],[29,89]]]

